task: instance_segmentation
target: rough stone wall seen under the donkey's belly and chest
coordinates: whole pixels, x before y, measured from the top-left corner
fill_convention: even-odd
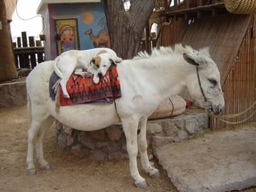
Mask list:
[[[147,124],[148,154],[166,143],[180,142],[202,132],[209,125],[207,113],[180,115]],[[127,158],[126,141],[122,125],[111,125],[99,131],[77,131],[56,121],[58,145],[77,157],[102,161]]]

